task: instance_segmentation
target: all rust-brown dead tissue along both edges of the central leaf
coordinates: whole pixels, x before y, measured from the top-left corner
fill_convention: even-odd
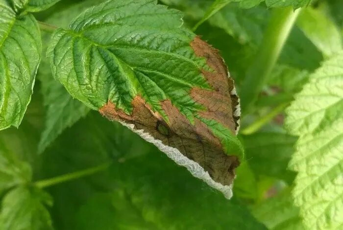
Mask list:
[[[215,119],[234,133],[239,117],[233,115],[238,104],[238,97],[230,93],[234,89],[233,80],[228,77],[227,68],[218,50],[199,37],[194,39],[191,46],[197,56],[206,58],[207,65],[213,70],[202,70],[213,90],[194,87],[190,91],[194,101],[205,108],[204,111],[198,111],[197,115]],[[154,112],[140,95],[133,99],[130,115],[116,108],[110,101],[99,112],[110,120],[134,124],[135,129],[144,130],[199,163],[214,181],[223,185],[232,184],[235,168],[240,164],[239,159],[236,156],[227,156],[219,138],[199,119],[195,117],[192,124],[169,99],[161,101],[160,105],[168,116],[168,122]]]

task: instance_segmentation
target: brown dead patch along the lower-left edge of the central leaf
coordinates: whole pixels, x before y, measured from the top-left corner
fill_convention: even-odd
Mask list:
[[[234,169],[239,165],[238,158],[224,153],[219,139],[204,123],[195,119],[195,124],[191,124],[170,100],[161,102],[169,118],[168,123],[154,113],[140,96],[134,98],[132,106],[131,115],[123,115],[123,111],[116,110],[111,102],[99,111],[110,120],[134,124],[135,129],[143,129],[165,145],[177,148],[184,156],[198,162],[214,181],[223,185],[232,184]]]

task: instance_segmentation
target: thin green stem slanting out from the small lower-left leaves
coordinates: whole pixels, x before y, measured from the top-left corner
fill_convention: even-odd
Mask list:
[[[111,165],[111,163],[104,163],[104,164],[98,165],[96,167],[87,168],[85,170],[81,170],[78,172],[68,173],[68,174],[65,174],[62,176],[53,177],[53,178],[49,178],[47,180],[38,181],[35,183],[35,185],[39,188],[44,188],[44,187],[49,187],[51,185],[60,184],[60,183],[67,182],[67,181],[72,181],[72,180],[75,180],[75,179],[78,179],[81,177],[89,176],[89,175],[98,173],[100,171],[103,171],[103,170],[107,169],[110,165]]]

